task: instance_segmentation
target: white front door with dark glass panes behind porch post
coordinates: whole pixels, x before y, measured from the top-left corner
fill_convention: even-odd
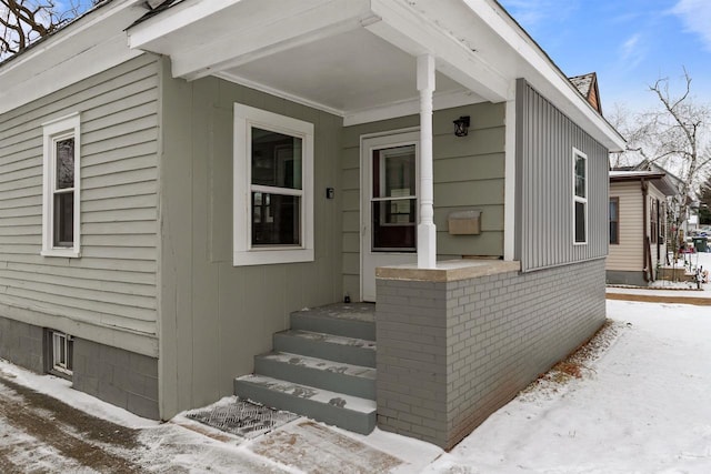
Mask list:
[[[419,132],[361,144],[361,296],[375,301],[375,268],[417,263]]]

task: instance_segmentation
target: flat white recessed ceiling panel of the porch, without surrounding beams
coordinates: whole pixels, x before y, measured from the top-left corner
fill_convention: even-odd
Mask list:
[[[417,58],[359,28],[226,68],[218,75],[350,118],[385,105],[417,105],[415,63]],[[438,98],[455,94],[467,95],[470,103],[484,100],[438,73]]]

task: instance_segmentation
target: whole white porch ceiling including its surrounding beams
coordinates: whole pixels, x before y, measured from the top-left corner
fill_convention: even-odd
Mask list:
[[[502,101],[510,89],[399,0],[186,1],[128,32],[131,48],[169,56],[173,77],[221,77],[347,124],[417,113],[417,56],[432,48],[448,51],[434,54],[435,109]]]

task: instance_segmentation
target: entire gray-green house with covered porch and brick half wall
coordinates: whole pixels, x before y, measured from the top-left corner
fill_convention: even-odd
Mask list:
[[[0,64],[0,357],[451,447],[600,327],[623,140],[495,1],[148,3]]]

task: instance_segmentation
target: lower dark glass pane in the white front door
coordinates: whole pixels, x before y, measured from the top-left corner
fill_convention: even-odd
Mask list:
[[[417,200],[373,202],[373,250],[413,252],[415,250]]]

